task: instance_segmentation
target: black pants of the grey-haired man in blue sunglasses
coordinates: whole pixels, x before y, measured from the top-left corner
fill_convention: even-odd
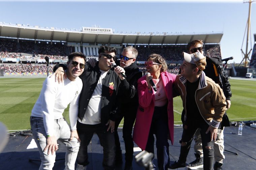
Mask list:
[[[116,160],[118,160],[118,159],[122,159],[122,150],[120,147],[117,128],[121,120],[124,118],[123,138],[124,138],[124,144],[125,144],[125,164],[127,166],[132,166],[133,146],[134,146],[133,139],[132,139],[132,128],[135,122],[136,112],[137,110],[131,111],[129,113],[125,113],[115,123]],[[122,161],[122,160],[118,160],[118,161]]]

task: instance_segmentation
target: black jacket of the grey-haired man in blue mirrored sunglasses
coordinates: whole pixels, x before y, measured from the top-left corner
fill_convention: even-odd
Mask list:
[[[120,66],[120,60],[116,61]],[[121,114],[129,114],[131,112],[137,112],[138,108],[138,94],[137,94],[137,81],[142,77],[142,72],[138,68],[136,62],[133,62],[130,66],[125,67],[126,79],[122,80],[119,90],[119,110]]]

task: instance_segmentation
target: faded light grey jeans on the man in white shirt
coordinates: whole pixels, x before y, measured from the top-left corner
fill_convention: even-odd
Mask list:
[[[30,126],[40,153],[41,165],[39,170],[52,169],[55,163],[56,154],[54,152],[53,155],[48,155],[47,150],[43,151],[46,146],[47,137],[44,129],[43,118],[31,116]],[[54,120],[54,135],[57,140],[63,142],[67,147],[65,156],[65,170],[75,169],[75,160],[80,145],[80,142],[76,138],[69,141],[70,134],[70,127],[64,118]]]

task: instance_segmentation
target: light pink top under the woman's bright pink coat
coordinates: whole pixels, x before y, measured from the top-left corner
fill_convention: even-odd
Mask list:
[[[164,90],[164,86],[163,86],[163,81],[161,77],[159,79],[152,79],[152,80],[155,83],[156,89],[157,89],[157,91],[154,91],[155,106],[162,107],[168,102],[168,99]]]

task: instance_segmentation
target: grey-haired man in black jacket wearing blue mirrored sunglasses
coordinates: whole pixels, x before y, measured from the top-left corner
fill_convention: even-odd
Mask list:
[[[123,138],[125,143],[125,170],[132,169],[133,160],[133,139],[132,128],[135,122],[137,108],[138,108],[138,95],[137,95],[137,81],[142,77],[142,72],[136,64],[136,57],[138,51],[136,48],[128,46],[123,49],[120,59],[116,63],[118,66],[125,70],[124,79],[119,76],[123,83],[120,85],[118,94],[120,117],[116,120],[115,124],[115,141],[116,141],[116,163],[122,163],[122,150],[120,147],[119,136],[117,128],[121,120],[124,118],[123,124]],[[116,71],[119,71],[117,67]]]

